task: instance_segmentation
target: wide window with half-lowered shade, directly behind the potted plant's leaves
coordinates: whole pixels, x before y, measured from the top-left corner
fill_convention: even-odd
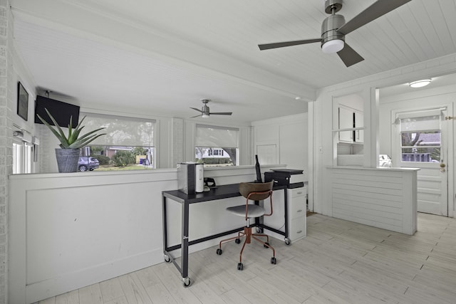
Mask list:
[[[97,171],[155,168],[154,125],[146,120],[83,113],[84,131],[105,127],[103,135],[85,147],[83,157],[98,160]],[[80,117],[81,117],[80,116]]]

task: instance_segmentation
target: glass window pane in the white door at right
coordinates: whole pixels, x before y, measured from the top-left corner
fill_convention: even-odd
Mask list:
[[[440,115],[400,119],[402,162],[440,162]]]

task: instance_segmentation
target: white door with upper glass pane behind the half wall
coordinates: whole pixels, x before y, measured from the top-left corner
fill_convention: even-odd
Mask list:
[[[393,165],[420,168],[418,211],[448,216],[445,109],[396,114]],[[451,132],[451,131],[450,131]]]

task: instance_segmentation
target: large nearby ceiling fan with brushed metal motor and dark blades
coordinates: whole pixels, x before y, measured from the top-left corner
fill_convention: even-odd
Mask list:
[[[347,67],[363,61],[364,58],[356,53],[353,48],[345,43],[345,36],[357,28],[377,19],[380,16],[388,14],[390,11],[397,9],[399,6],[406,4],[411,0],[378,0],[371,6],[353,17],[348,22],[342,15],[336,14],[342,8],[342,0],[326,0],[325,12],[331,14],[321,24],[321,38],[286,41],[279,43],[259,44],[261,51],[270,48],[283,48],[284,46],[297,46],[300,44],[320,42],[323,53],[337,53]]]

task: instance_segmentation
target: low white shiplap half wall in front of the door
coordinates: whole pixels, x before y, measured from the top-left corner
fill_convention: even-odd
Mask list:
[[[332,216],[403,234],[417,229],[417,169],[328,168]]]

